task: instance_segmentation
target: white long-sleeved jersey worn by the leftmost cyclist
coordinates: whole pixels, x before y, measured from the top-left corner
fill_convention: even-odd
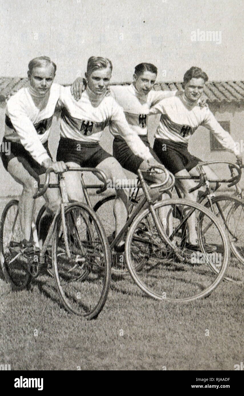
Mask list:
[[[60,85],[52,84],[50,95],[37,99],[35,105],[28,88],[21,88],[7,102],[6,139],[21,143],[39,163],[48,158],[43,143],[48,140],[52,118],[60,96]]]

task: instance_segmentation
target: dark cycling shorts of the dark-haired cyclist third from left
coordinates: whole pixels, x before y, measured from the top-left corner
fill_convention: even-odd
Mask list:
[[[154,150],[150,147],[147,135],[139,135],[146,147],[149,147],[152,156],[160,163],[159,158],[156,156]],[[131,148],[127,145],[126,141],[119,136],[115,136],[113,140],[113,156],[120,163],[120,165],[127,169],[127,171],[137,173],[143,159],[136,156]]]

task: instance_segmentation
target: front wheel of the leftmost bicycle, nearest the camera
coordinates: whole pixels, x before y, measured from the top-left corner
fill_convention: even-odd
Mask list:
[[[70,312],[96,318],[111,282],[108,239],[94,211],[78,202],[65,207],[65,231],[60,215],[54,229],[52,260],[61,301]]]

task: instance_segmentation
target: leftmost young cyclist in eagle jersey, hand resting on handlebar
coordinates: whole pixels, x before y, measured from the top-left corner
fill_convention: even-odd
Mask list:
[[[29,62],[29,86],[21,88],[7,102],[3,141],[10,145],[10,155],[1,152],[4,168],[23,186],[19,198],[19,216],[23,233],[22,247],[33,248],[30,242],[35,200],[40,180],[51,168],[55,173],[67,169],[64,162],[54,162],[48,150],[52,117],[60,96],[60,86],[53,84],[56,65],[48,57]],[[57,183],[53,173],[51,183]],[[56,211],[60,203],[58,189],[48,188],[44,194],[47,213]],[[50,217],[50,216],[48,216]]]

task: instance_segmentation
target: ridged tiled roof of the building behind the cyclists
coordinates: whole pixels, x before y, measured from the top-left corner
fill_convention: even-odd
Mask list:
[[[27,78],[0,77],[0,101],[4,101],[12,89],[19,89],[28,84]],[[113,83],[114,85],[115,83]],[[119,83],[121,85],[131,84],[129,82]],[[181,82],[158,82],[155,84],[156,90],[164,91],[175,89],[183,90]],[[240,102],[244,100],[244,82],[227,81],[227,82],[207,82],[204,86],[204,92],[207,95],[208,102]]]

